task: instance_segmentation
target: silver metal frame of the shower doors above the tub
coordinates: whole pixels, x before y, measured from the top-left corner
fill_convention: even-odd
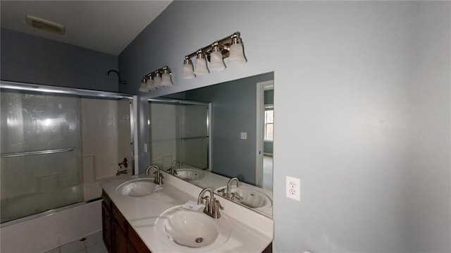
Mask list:
[[[118,93],[118,92],[103,92],[103,91],[97,91],[97,90],[84,90],[84,89],[78,89],[78,88],[70,88],[70,87],[56,87],[56,86],[50,86],[50,85],[39,85],[39,84],[33,84],[33,83],[27,83],[27,82],[12,82],[12,81],[6,81],[6,80],[0,80],[0,89],[7,89],[7,90],[19,90],[19,91],[25,91],[25,92],[41,92],[45,94],[68,94],[73,96],[78,96],[80,98],[104,98],[104,99],[130,99],[130,154],[131,154],[131,170],[132,174],[135,173],[135,154],[134,154],[134,136],[135,136],[135,111],[133,109],[133,104],[135,101],[135,97],[130,94],[125,93]],[[7,154],[8,156],[0,156],[2,157],[9,157],[13,156],[13,154]],[[23,154],[20,154],[23,155]],[[38,214],[33,214],[30,216],[25,216],[23,218],[18,218],[13,221],[7,221],[5,223],[0,224],[0,228],[4,228],[6,226],[11,226],[16,223],[20,223],[23,221],[28,221],[33,218],[39,218],[42,216],[48,216],[51,214],[55,214],[59,211],[63,211],[66,209],[71,209],[76,206],[81,206],[83,204],[87,204],[90,202],[95,202],[97,200],[101,199],[101,197],[98,197],[96,199],[89,199],[87,201],[77,202],[74,204],[69,204],[67,206],[58,207],[56,209],[51,209],[48,211],[43,211]]]

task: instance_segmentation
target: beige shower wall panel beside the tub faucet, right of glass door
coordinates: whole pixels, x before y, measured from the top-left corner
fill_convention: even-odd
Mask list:
[[[130,100],[82,98],[81,114],[84,199],[90,200],[101,197],[99,181],[125,169],[118,163],[131,164]]]

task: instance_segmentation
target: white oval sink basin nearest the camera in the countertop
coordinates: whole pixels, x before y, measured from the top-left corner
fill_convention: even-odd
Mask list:
[[[156,220],[155,233],[169,247],[180,252],[207,252],[227,242],[232,233],[228,218],[211,218],[197,211],[175,206]]]

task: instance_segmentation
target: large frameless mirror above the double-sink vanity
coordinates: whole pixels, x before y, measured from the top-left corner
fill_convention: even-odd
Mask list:
[[[272,216],[273,73],[149,99],[149,158]],[[226,185],[234,181],[229,195]]]

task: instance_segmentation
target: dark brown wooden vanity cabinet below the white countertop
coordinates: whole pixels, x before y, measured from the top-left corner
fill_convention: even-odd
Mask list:
[[[102,192],[101,204],[104,244],[110,253],[151,253],[121,211]]]

